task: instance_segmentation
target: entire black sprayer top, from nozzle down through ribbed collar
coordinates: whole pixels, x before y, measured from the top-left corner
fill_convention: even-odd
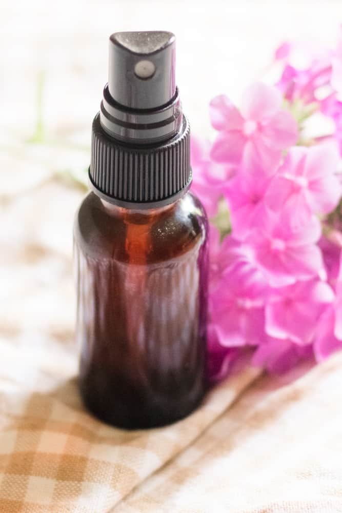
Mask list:
[[[129,208],[172,203],[191,183],[189,141],[175,84],[174,34],[112,34],[108,84],[93,122],[94,192]]]

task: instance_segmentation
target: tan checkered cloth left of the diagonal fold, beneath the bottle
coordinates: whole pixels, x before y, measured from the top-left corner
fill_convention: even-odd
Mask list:
[[[6,342],[0,348],[8,356]],[[32,364],[32,358],[26,362]],[[116,429],[88,415],[75,379],[49,392],[35,391],[35,384],[30,383],[25,393],[4,378],[1,513],[102,513],[112,509],[192,444],[256,374],[255,369],[246,369],[220,385],[183,421],[141,431]],[[38,379],[39,389],[43,375]]]

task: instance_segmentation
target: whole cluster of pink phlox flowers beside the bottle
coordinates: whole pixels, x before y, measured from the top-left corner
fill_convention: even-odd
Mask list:
[[[192,189],[211,219],[212,379],[245,346],[275,372],[342,348],[342,40],[304,69],[296,49],[279,47],[279,81],[253,84],[239,109],[214,98],[215,141],[192,140]],[[333,131],[305,139],[317,112]]]

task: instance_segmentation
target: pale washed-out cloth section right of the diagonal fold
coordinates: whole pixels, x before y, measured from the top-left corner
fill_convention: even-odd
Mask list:
[[[112,511],[341,512],[341,383],[342,354],[292,383],[257,380]]]

